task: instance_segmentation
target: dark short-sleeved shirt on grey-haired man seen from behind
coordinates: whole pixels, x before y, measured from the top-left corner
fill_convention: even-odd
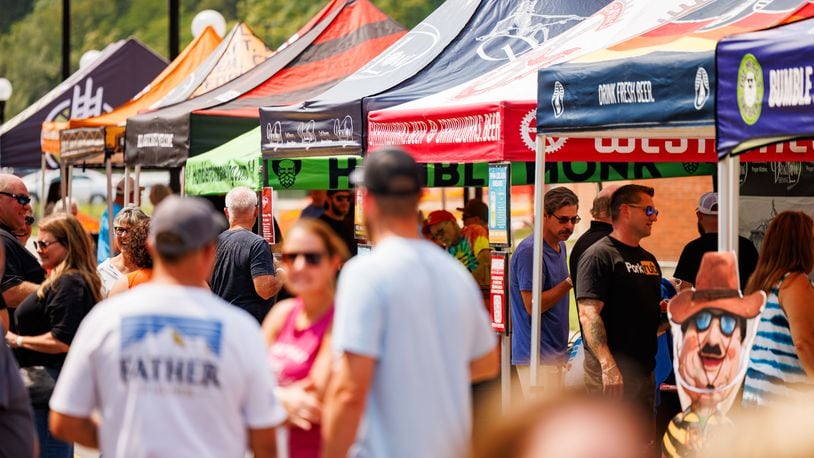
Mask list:
[[[254,278],[274,275],[274,258],[268,242],[246,229],[228,230],[218,236],[212,292],[226,302],[251,314],[262,322],[274,303],[254,289]]]

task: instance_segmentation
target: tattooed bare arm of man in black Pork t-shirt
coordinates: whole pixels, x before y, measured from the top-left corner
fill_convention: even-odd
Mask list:
[[[621,396],[624,388],[622,373],[616,366],[616,360],[608,348],[608,335],[605,323],[599,313],[605,303],[597,299],[579,299],[579,321],[582,324],[582,335],[585,344],[599,360],[602,366],[602,387],[606,394]]]

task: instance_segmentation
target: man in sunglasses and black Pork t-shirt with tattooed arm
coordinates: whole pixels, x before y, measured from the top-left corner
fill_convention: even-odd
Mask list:
[[[653,188],[626,185],[613,193],[613,231],[579,261],[577,301],[589,390],[624,396],[653,414],[661,269],[639,245],[658,210]]]

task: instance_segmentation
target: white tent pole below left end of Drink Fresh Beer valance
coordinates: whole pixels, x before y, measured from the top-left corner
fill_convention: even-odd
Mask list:
[[[545,135],[537,135],[534,157],[534,249],[531,289],[531,360],[529,361],[529,392],[537,389],[540,370],[540,294],[543,289],[543,192],[545,190]]]

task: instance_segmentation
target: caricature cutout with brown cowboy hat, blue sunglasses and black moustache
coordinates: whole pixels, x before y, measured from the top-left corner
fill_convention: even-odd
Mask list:
[[[664,435],[666,456],[694,455],[714,428],[730,423],[726,412],[743,381],[756,330],[747,320],[757,317],[765,302],[763,291],[741,295],[732,252],[705,254],[697,288],[670,301],[670,321],[680,342],[676,380],[686,408]]]

